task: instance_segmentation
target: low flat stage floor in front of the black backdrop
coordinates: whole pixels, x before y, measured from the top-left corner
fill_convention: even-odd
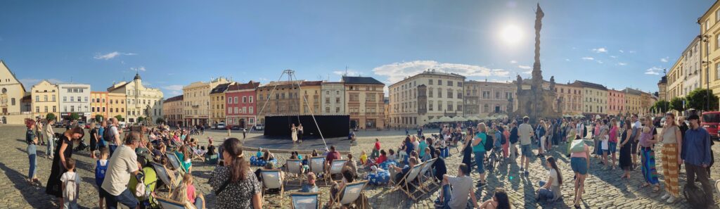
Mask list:
[[[350,141],[346,137],[342,138],[325,138],[325,142],[330,146],[335,146],[336,151],[350,151]],[[313,149],[318,152],[325,151],[323,139],[313,138],[303,140],[302,143],[293,144],[289,138],[267,138],[264,135],[258,135],[252,138],[246,138],[243,147],[249,150],[257,150],[257,148],[269,148],[271,151],[300,151],[301,153],[310,153]]]

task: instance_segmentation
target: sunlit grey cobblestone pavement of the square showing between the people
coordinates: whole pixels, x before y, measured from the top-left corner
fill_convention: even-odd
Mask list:
[[[58,130],[59,131],[59,130]],[[434,132],[434,130],[433,130]],[[0,143],[5,148],[0,152],[0,172],[4,178],[0,178],[0,208],[58,208],[55,198],[45,194],[45,183],[50,173],[50,164],[45,156],[45,147],[38,146],[38,177],[42,182],[42,187],[33,187],[27,183],[27,154],[25,152],[24,128],[22,126],[0,125]],[[359,156],[362,150],[369,151],[374,143],[374,138],[380,138],[383,148],[397,148],[402,141],[402,135],[405,131],[361,131],[359,135],[359,144],[351,147],[351,152],[355,156]],[[426,135],[428,133],[426,132]],[[222,138],[227,133],[221,131],[208,131],[205,136],[212,135],[216,139]],[[238,134],[233,133],[234,137]],[[241,134],[240,134],[241,137]],[[86,138],[87,140],[87,138]],[[719,146],[713,148],[716,156],[720,152]],[[457,165],[462,161],[462,156],[457,154],[456,149],[451,149],[451,154],[446,163],[448,164],[449,174],[456,174]],[[536,183],[547,177],[547,170],[542,166],[541,158],[533,158],[530,166],[530,175],[527,177],[519,173],[518,164],[502,164],[498,168],[498,172],[487,177],[487,186],[476,190],[478,200],[490,199],[495,187],[503,187],[510,195],[513,208],[571,208],[572,207],[572,170],[570,169],[570,160],[564,156],[564,153],[550,151],[552,156],[558,159],[558,166],[562,172],[565,183],[562,184],[562,194],[564,201],[556,203],[536,203],[534,191],[539,187]],[[658,152],[659,155],[659,152]],[[277,154],[279,161],[287,159],[285,154]],[[79,205],[82,208],[97,208],[97,192],[94,186],[94,160],[89,158],[86,151],[73,154],[73,158],[78,160],[78,174],[81,175],[81,195]],[[657,158],[658,172],[660,182],[662,182],[662,168],[660,167],[660,157]],[[519,161],[519,159],[518,159]],[[590,166],[590,177],[585,182],[585,195],[583,195],[582,208],[689,208],[688,203],[681,199],[670,205],[660,200],[662,192],[652,192],[649,187],[639,189],[642,183],[642,174],[636,170],[631,173],[630,180],[619,179],[620,170],[603,170],[598,165],[599,159],[592,159]],[[206,196],[208,208],[215,205],[215,197],[212,195],[210,186],[207,184],[207,178],[210,177],[213,166],[194,161],[193,175],[195,186],[199,192],[209,194]],[[254,169],[254,168],[253,168]],[[720,179],[720,166],[714,166],[711,177]],[[473,179],[477,182],[477,172],[472,173]],[[685,184],[685,172],[680,172],[680,187],[682,190]],[[661,183],[662,184],[662,183]],[[287,187],[287,192],[295,192],[299,187]],[[328,187],[320,187],[323,203],[328,202]],[[161,194],[165,194],[162,192]],[[433,190],[428,195],[420,197],[415,202],[405,196],[404,193],[392,190],[390,187],[369,186],[366,188],[365,195],[369,197],[372,208],[433,208],[433,200],[438,196],[438,191]],[[719,196],[714,194],[716,202],[720,203]],[[289,197],[282,199],[283,208],[289,208]]]

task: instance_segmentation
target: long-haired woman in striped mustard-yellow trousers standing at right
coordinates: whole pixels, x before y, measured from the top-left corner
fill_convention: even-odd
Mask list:
[[[667,198],[667,203],[674,203],[680,197],[678,174],[682,159],[678,156],[683,151],[683,135],[680,134],[680,128],[675,123],[674,114],[665,115],[665,126],[660,136],[662,137],[662,175],[665,177],[665,195],[660,198]]]

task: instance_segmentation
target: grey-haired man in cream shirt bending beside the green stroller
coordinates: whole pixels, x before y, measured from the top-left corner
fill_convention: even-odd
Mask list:
[[[117,208],[117,203],[122,203],[128,208],[138,207],[138,199],[132,195],[135,191],[127,190],[127,182],[130,174],[137,179],[142,178],[142,174],[138,172],[140,169],[138,155],[135,154],[135,148],[139,144],[140,133],[132,132],[125,138],[125,144],[118,147],[110,158],[105,179],[102,182],[102,190],[100,190],[107,197],[107,208],[109,209]]]

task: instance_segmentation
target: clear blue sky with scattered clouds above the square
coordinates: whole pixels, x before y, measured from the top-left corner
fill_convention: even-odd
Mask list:
[[[423,71],[507,81],[533,62],[536,1],[4,1],[0,59],[29,89],[41,79],[143,81],[181,94],[228,76],[392,84]],[[657,91],[714,1],[541,1],[545,79]],[[501,31],[520,28],[516,42]]]

